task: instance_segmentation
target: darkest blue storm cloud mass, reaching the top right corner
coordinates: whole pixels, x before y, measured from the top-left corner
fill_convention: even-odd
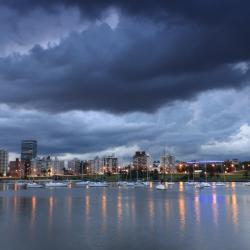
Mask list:
[[[0,1],[15,10],[76,6],[121,17],[72,33],[53,48],[0,60],[0,102],[49,111],[152,111],[214,88],[242,87],[249,74],[232,64],[250,59],[247,2]],[[20,14],[20,15],[21,15]],[[132,17],[137,16],[137,17]],[[47,24],[46,24],[47,25]],[[19,31],[21,33],[21,31]]]

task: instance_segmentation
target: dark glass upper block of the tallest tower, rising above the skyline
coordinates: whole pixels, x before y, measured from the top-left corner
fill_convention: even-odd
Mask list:
[[[37,157],[37,141],[23,140],[21,143],[21,160],[31,161]]]

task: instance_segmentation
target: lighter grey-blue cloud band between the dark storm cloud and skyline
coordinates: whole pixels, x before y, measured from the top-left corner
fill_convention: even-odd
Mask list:
[[[246,159],[248,154],[242,154],[238,148],[234,155],[229,155],[222,153],[223,148],[218,154],[206,154],[201,147],[210,141],[224,141],[244,124],[250,124],[246,108],[249,105],[247,88],[209,91],[191,102],[176,102],[151,114],[82,111],[51,114],[2,108],[1,146],[20,152],[21,139],[36,138],[40,154],[98,154],[107,148],[137,145],[154,159],[160,157],[165,147],[178,159]]]

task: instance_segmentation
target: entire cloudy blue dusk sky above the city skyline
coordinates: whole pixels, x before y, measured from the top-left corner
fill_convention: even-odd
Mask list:
[[[0,147],[250,155],[250,2],[0,0]]]

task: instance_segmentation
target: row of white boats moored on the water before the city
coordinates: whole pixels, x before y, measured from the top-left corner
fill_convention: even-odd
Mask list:
[[[59,181],[49,181],[45,182],[44,184],[38,183],[35,181],[32,182],[26,182],[26,181],[16,181],[16,182],[10,182],[9,185],[16,185],[16,186],[23,186],[26,188],[56,188],[56,187],[68,187],[70,184],[72,184],[71,181],[65,181],[65,182],[59,182]],[[175,182],[161,182],[156,185],[157,190],[166,190],[169,186],[174,185]],[[224,182],[185,182],[188,186],[194,186],[197,189],[203,189],[203,188],[211,188],[216,186],[226,186],[226,183]],[[74,182],[74,185],[76,187],[108,187],[109,183],[106,181],[77,181]],[[119,187],[127,187],[127,188],[143,188],[150,186],[149,181],[135,181],[135,182],[127,182],[127,181],[119,181],[117,182],[117,185]],[[245,186],[250,186],[250,182],[245,182]]]

